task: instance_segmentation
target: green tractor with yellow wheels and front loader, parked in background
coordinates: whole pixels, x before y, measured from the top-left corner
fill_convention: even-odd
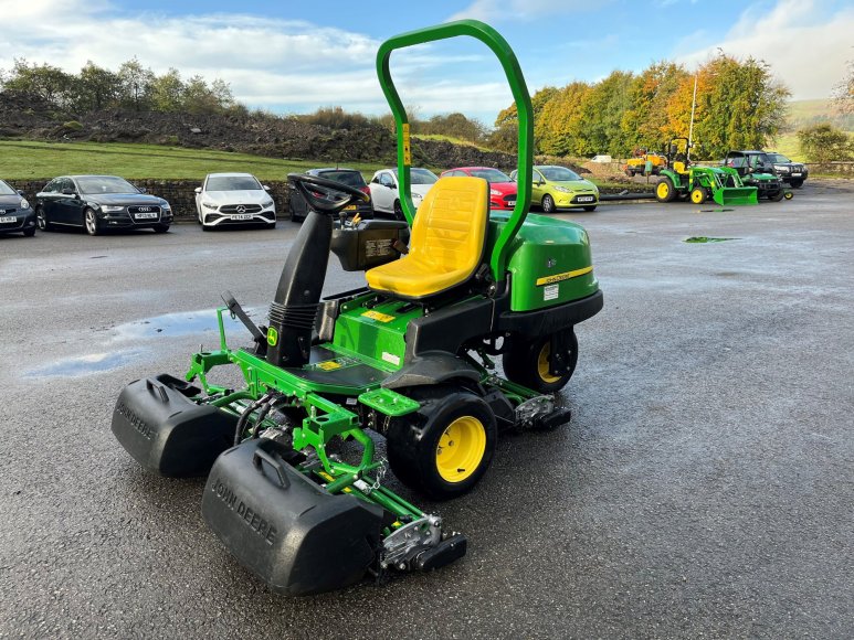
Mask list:
[[[671,140],[667,168],[660,171],[662,178],[655,186],[658,202],[690,198],[694,204],[709,199],[721,206],[758,203],[756,186],[745,186],[735,169],[692,164],[689,153],[687,138]]]

